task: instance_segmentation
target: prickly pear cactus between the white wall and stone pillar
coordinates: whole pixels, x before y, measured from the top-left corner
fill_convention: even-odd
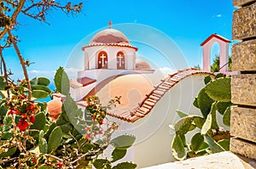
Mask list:
[[[201,89],[193,103],[201,110],[202,117],[177,110],[181,119],[172,127],[176,132],[172,140],[172,155],[178,161],[229,150],[230,132],[218,126],[216,114],[218,112],[223,115],[224,125],[230,126],[230,76],[218,74],[213,79],[206,76],[204,82],[206,86]],[[186,133],[196,127],[201,129],[201,132],[196,132],[187,144]]]

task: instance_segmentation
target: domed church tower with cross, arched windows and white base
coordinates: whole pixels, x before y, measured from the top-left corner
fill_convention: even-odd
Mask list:
[[[76,101],[110,77],[154,73],[146,61],[137,59],[138,48],[131,46],[121,31],[113,29],[111,21],[108,25],[108,29],[98,32],[90,44],[82,48],[84,70],[78,72],[77,79],[70,80],[71,94]]]

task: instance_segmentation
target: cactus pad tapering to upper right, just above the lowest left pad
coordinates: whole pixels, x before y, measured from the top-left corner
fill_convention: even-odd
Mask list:
[[[174,125],[175,132],[179,135],[184,135],[189,132],[189,127],[194,120],[194,116],[186,116],[177,121]]]

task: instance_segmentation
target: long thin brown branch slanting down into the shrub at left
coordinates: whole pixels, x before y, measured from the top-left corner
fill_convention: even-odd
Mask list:
[[[28,77],[28,74],[27,74],[25,61],[22,58],[22,55],[20,54],[20,49],[18,48],[17,43],[16,43],[11,31],[9,29],[7,31],[8,31],[8,34],[9,34],[10,41],[14,44],[16,54],[18,55],[18,57],[20,59],[20,65],[22,66],[23,74],[25,76],[27,90],[28,90],[27,91],[27,94],[28,94],[27,99],[31,100],[31,98],[32,98],[32,88],[31,88],[31,85],[30,85],[30,82],[29,82],[29,77]]]

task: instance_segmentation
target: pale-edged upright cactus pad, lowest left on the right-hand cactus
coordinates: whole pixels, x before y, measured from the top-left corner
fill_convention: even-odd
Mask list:
[[[186,158],[186,150],[183,145],[183,140],[179,135],[176,135],[172,140],[172,155],[178,161],[183,161]]]

